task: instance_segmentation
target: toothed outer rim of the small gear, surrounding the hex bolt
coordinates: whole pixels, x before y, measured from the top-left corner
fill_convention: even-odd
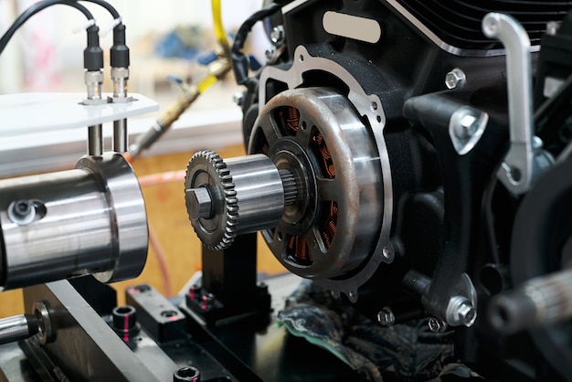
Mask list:
[[[237,237],[238,231],[238,198],[237,191],[235,189],[235,185],[232,181],[232,175],[230,174],[230,170],[228,170],[227,164],[223,161],[223,159],[215,152],[211,150],[203,150],[199,151],[193,155],[191,160],[189,161],[186,167],[186,176],[185,176],[185,189],[192,188],[193,185],[190,185],[191,179],[189,176],[191,174],[191,170],[193,169],[194,163],[202,162],[206,166],[210,167],[212,172],[209,172],[209,175],[216,175],[213,177],[213,181],[219,186],[220,190],[222,191],[225,202],[225,212],[223,217],[221,218],[221,227],[218,228],[220,233],[222,233],[220,239],[216,240],[206,240],[203,239],[203,233],[200,232],[196,227],[195,223],[193,224],[193,228],[199,238],[203,241],[205,246],[208,249],[214,250],[222,250],[227,249],[234,239]],[[190,216],[189,216],[190,218]],[[191,222],[194,220],[191,219]],[[212,235],[208,239],[212,239]]]

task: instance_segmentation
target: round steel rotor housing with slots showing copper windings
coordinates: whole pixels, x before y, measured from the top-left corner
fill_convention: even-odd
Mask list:
[[[283,107],[300,112],[301,127],[295,135],[277,122],[275,111]],[[381,230],[383,186],[376,143],[368,129],[344,96],[322,88],[281,92],[260,111],[254,126],[249,153],[260,153],[260,143],[268,143],[270,159],[291,171],[305,191],[298,203],[286,208],[275,229],[263,232],[264,239],[293,273],[316,281],[343,278],[376,249]],[[312,150],[317,132],[331,154],[334,176],[323,175],[319,154]],[[323,239],[322,218],[328,214],[323,203],[338,208],[331,243]],[[292,258],[287,249],[291,237],[305,239],[311,263]]]

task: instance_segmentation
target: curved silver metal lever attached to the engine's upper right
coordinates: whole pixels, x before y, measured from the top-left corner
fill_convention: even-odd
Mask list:
[[[553,162],[534,136],[530,39],[518,21],[499,13],[483,17],[482,32],[501,40],[506,50],[511,145],[497,175],[510,192],[521,195]]]

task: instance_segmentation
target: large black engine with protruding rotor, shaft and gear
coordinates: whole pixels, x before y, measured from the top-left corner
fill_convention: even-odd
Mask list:
[[[248,154],[188,164],[196,234],[224,250],[260,231],[372,320],[453,330],[484,375],[566,379],[569,9],[268,6],[268,64],[249,77],[240,31],[232,49]]]

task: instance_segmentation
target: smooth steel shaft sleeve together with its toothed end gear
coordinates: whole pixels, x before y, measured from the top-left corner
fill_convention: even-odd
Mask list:
[[[187,166],[187,213],[210,249],[227,248],[237,235],[274,227],[284,210],[284,194],[281,173],[266,155],[223,161],[203,151]]]

